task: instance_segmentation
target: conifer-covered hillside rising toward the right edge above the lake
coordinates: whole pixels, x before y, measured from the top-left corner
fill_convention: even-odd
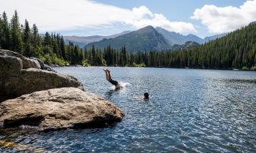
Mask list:
[[[256,70],[256,24],[251,23],[224,37],[201,46],[156,53],[145,58],[148,67],[190,67],[202,69],[251,69]],[[150,56],[146,54],[143,56]],[[162,56],[165,60],[158,60]],[[154,64],[153,63],[156,63]],[[153,65],[152,65],[153,63]]]

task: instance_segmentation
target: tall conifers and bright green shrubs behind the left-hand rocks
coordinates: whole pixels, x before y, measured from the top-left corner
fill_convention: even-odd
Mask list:
[[[79,64],[83,60],[79,46],[65,44],[59,33],[40,35],[38,27],[35,24],[30,27],[27,20],[20,24],[16,11],[10,22],[5,12],[0,14],[0,48],[40,58],[47,64]]]

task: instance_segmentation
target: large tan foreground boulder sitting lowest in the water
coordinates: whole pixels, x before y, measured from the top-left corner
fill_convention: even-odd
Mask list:
[[[0,103],[1,128],[87,128],[118,122],[123,117],[122,110],[109,101],[79,88],[43,90]]]

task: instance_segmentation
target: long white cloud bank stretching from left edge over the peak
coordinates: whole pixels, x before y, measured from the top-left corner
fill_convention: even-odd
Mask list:
[[[0,12],[7,12],[9,18],[14,10],[18,11],[22,22],[27,18],[29,22],[35,22],[41,31],[111,26],[119,22],[137,29],[152,25],[179,33],[196,32],[193,24],[171,22],[162,14],[154,14],[145,6],[128,10],[89,0],[0,1]]]

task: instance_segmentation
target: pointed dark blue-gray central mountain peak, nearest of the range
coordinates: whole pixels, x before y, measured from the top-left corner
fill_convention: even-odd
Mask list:
[[[152,26],[147,26],[124,35],[119,35],[115,38],[102,39],[98,42],[89,43],[86,47],[91,48],[93,45],[100,49],[109,45],[115,49],[126,46],[128,52],[171,49],[171,46],[169,46],[165,37],[158,33]]]

